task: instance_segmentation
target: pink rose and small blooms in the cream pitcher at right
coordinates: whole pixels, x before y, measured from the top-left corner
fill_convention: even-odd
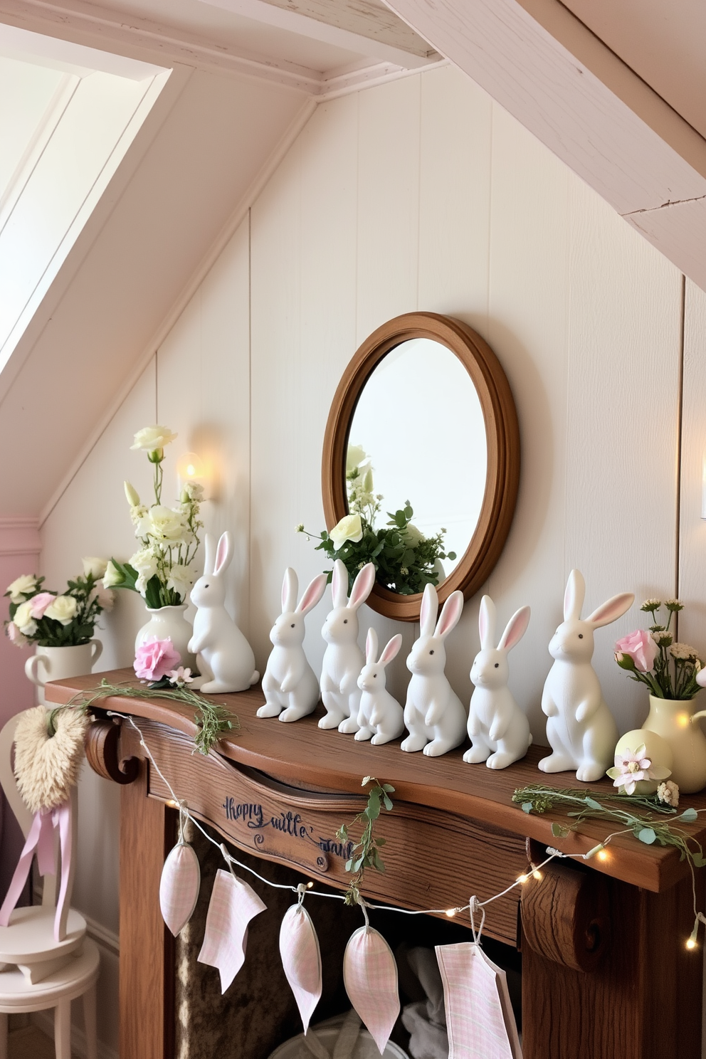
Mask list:
[[[692,699],[700,690],[696,676],[703,662],[695,647],[674,641],[672,618],[684,610],[678,599],[667,599],[667,624],[660,624],[660,599],[646,599],[640,610],[652,615],[649,629],[636,629],[615,645],[615,661],[631,680],[647,684],[657,699]]]

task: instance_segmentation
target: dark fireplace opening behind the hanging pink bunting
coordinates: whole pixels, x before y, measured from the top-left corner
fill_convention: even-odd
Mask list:
[[[222,841],[216,831],[210,833],[217,842]],[[216,846],[191,822],[186,837],[201,864],[201,891],[194,915],[176,941],[176,1059],[268,1059],[279,1044],[302,1033],[302,1021],[285,977],[278,947],[283,916],[296,902],[296,895],[289,890],[268,886],[236,868],[236,874],[265,902],[267,912],[251,921],[245,965],[221,995],[218,971],[199,964],[197,957],[213,882],[216,872],[224,866],[223,859]],[[272,882],[296,886],[306,879],[303,872],[230,848],[238,860]],[[319,881],[315,889],[338,893]],[[363,916],[360,909],[326,897],[308,895],[305,904],[319,937],[323,970],[322,998],[311,1020],[315,1026],[350,1009],[343,984],[343,954],[350,935],[363,925]],[[433,967],[435,946],[472,940],[467,914],[442,919],[374,911],[370,926],[385,937],[395,953],[402,1009],[409,1005],[416,1005],[417,1010],[423,1007],[428,994],[418,971],[420,965]],[[489,937],[484,937],[483,947],[507,973],[510,999],[521,1028],[521,955],[515,949]],[[415,950],[427,952],[420,955],[415,954]],[[422,973],[421,977],[426,975]],[[410,1023],[411,1020],[405,1021]],[[391,1040],[410,1054],[410,1031],[401,1017]]]

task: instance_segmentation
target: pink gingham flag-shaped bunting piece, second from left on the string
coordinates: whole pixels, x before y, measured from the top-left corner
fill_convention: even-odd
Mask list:
[[[248,923],[266,909],[247,882],[222,868],[216,872],[198,962],[218,968],[221,993],[246,961]]]

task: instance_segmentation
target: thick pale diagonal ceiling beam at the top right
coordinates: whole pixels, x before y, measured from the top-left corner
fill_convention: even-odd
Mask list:
[[[384,0],[706,289],[706,141],[558,0]]]

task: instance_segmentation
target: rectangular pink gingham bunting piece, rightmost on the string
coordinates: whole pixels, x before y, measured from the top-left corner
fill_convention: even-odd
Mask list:
[[[505,971],[479,945],[437,945],[449,1059],[522,1059]]]

